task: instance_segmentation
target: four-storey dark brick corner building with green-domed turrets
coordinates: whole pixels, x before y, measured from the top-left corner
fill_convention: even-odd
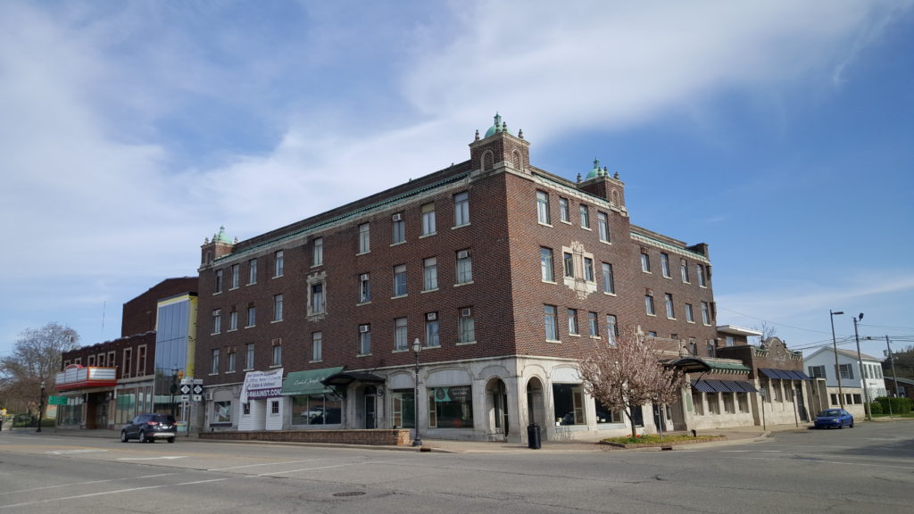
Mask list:
[[[465,162],[244,241],[220,229],[199,288],[207,431],[414,427],[418,411],[436,438],[626,434],[577,359],[622,327],[674,357],[717,347],[707,245],[633,225],[597,161],[576,181],[532,166],[497,115]],[[684,396],[639,423],[685,430]]]

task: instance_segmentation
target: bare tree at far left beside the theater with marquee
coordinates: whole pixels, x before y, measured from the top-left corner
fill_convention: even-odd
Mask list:
[[[61,354],[79,348],[80,336],[70,327],[48,323],[41,328],[27,328],[16,340],[9,357],[0,359],[0,377],[7,398],[37,400],[44,382],[53,386],[60,370]],[[39,416],[41,412],[38,413]]]

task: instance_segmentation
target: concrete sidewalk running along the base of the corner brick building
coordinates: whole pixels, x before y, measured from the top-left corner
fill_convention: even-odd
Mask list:
[[[718,445],[727,445],[727,444],[741,444],[749,443],[753,441],[760,441],[767,437],[772,432],[784,432],[784,431],[800,431],[807,430],[811,423],[800,423],[799,426],[795,424],[782,424],[782,425],[773,425],[768,426],[766,429],[763,429],[760,426],[746,426],[746,427],[733,427],[733,428],[722,428],[722,429],[713,429],[713,430],[702,430],[698,431],[699,435],[723,435],[725,438],[709,441],[707,443],[693,443],[693,444],[676,444],[672,448],[675,449],[696,449],[707,446],[718,446]],[[34,428],[17,428],[14,432],[34,432]],[[6,430],[4,430],[6,432]],[[101,439],[111,439],[112,441],[118,441],[120,439],[120,432],[118,430],[108,430],[108,429],[93,429],[93,430],[80,430],[73,428],[58,428],[58,429],[43,429],[41,434],[43,435],[68,435],[68,436],[83,436],[83,437],[98,437]],[[197,439],[197,434],[178,434],[177,440],[178,443],[182,439]],[[263,444],[277,444],[277,443],[267,443],[267,442],[257,442]],[[300,444],[300,445],[312,445],[312,446],[347,446],[347,447],[360,447],[360,448],[370,448],[370,449],[391,449],[391,450],[417,450],[413,446],[356,446],[354,444],[322,444],[322,443],[279,443],[279,444]],[[519,443],[503,443],[503,442],[486,442],[486,441],[452,441],[452,440],[442,440],[442,439],[422,439],[421,451],[426,452],[446,452],[446,453],[505,453],[505,452],[544,452],[544,453],[574,453],[574,452],[618,452],[618,451],[661,451],[661,447],[645,447],[645,448],[618,448],[615,446],[610,446],[608,444],[599,444],[599,439],[593,440],[581,440],[581,441],[542,441],[541,447],[537,450],[531,450],[527,444]]]

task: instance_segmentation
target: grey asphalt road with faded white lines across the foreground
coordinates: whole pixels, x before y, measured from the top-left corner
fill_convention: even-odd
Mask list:
[[[0,434],[0,514],[912,511],[914,423],[674,451],[419,453]]]

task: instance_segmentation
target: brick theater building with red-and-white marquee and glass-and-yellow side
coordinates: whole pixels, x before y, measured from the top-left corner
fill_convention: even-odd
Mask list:
[[[140,412],[176,412],[171,385],[193,374],[196,326],[197,277],[167,279],[125,303],[122,337],[63,353],[58,423],[112,428]]]

